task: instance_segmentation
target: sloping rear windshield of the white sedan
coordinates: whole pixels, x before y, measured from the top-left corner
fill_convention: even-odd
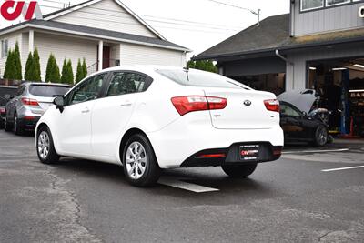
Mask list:
[[[194,69],[158,69],[157,73],[183,86],[207,86],[251,89],[226,76]]]

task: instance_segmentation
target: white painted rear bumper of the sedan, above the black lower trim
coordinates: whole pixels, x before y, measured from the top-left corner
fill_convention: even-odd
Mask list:
[[[208,113],[198,112],[189,119],[187,114],[161,130],[147,133],[159,167],[189,167],[189,164],[196,163],[186,161],[206,149],[227,150],[237,144],[269,144],[271,147],[283,147],[283,131],[279,124],[273,124],[268,129],[217,129],[211,126],[211,120],[207,119],[206,115],[209,117]],[[274,159],[269,157],[267,161]],[[220,163],[221,159],[217,165]],[[214,162],[208,162],[207,166],[211,164]]]

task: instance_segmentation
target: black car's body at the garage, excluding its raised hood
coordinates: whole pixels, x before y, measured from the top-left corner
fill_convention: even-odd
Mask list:
[[[284,101],[280,101],[280,126],[285,143],[310,142],[324,146],[329,140],[327,123],[317,116],[308,116],[298,107]]]

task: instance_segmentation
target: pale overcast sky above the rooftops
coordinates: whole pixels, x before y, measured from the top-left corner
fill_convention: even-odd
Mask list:
[[[64,4],[76,5],[84,1],[39,0],[38,3],[45,15],[55,11],[56,8],[62,8]],[[288,0],[216,1],[254,11],[261,9],[261,19],[270,15],[288,13],[290,2]],[[248,10],[217,4],[214,0],[122,0],[122,2],[153,26],[158,33],[165,36],[168,41],[193,50],[188,57],[217,45],[229,36],[256,24],[258,20],[257,15],[251,14]],[[10,24],[1,19],[0,27],[7,25]]]

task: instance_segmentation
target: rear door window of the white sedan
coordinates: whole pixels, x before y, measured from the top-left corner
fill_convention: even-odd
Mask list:
[[[111,78],[107,96],[120,96],[147,90],[147,76],[136,73],[118,72]]]

